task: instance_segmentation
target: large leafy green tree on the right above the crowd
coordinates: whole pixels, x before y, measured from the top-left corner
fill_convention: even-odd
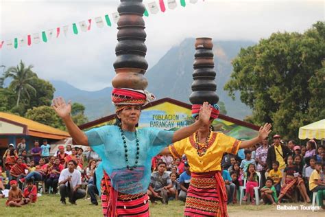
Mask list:
[[[303,34],[274,33],[257,45],[241,49],[224,89],[253,109],[254,124],[273,124],[285,139],[298,137],[298,128],[325,118],[325,23]]]

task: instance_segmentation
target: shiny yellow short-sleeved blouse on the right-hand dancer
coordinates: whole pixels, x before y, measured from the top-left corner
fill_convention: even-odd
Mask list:
[[[236,155],[241,141],[224,135],[223,133],[211,132],[208,148],[205,155],[197,155],[195,148],[195,133],[186,139],[177,141],[169,146],[169,151],[175,158],[186,155],[191,172],[210,172],[221,170],[221,160],[224,152]],[[200,144],[199,146],[203,146]]]

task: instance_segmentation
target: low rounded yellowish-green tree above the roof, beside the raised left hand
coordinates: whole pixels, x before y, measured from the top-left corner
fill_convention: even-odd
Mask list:
[[[50,106],[38,106],[28,109],[25,117],[41,124],[65,130],[62,119],[56,115],[56,112]]]

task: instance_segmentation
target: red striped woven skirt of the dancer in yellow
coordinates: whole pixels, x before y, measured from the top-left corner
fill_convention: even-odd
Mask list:
[[[219,171],[191,173],[184,216],[228,216],[226,187]]]

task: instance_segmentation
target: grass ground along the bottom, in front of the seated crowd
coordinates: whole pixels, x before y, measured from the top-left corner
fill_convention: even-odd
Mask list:
[[[89,200],[80,199],[77,205],[61,205],[60,196],[58,195],[43,195],[38,198],[37,203],[25,205],[23,207],[5,207],[6,199],[0,199],[0,216],[102,216],[101,206],[90,205]],[[290,205],[290,204],[286,204]],[[295,205],[305,205],[303,203]],[[310,205],[310,204],[309,204]],[[151,216],[183,216],[184,203],[180,201],[170,201],[169,205],[150,204]],[[325,216],[324,211],[311,212],[311,210],[277,210],[276,206],[272,205],[231,205],[228,206],[228,214],[240,217],[253,216]]]

